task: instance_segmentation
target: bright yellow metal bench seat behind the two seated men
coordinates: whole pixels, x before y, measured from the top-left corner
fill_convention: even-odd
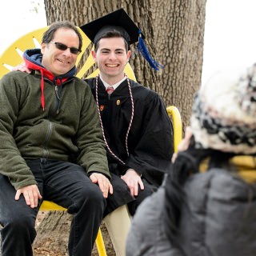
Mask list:
[[[38,30],[34,30],[28,34],[23,35],[21,38],[18,38],[15,42],[13,42],[0,56],[0,78],[4,74],[7,74],[12,70],[14,66],[18,66],[21,62],[23,62],[22,54],[26,49],[32,48],[41,48],[41,40],[42,34],[46,31],[48,27],[43,27]],[[80,29],[79,29],[80,30]],[[82,53],[78,55],[78,60],[76,65],[81,62],[82,54],[86,51],[88,47],[91,46],[90,39],[87,38],[86,34],[80,30],[83,39]],[[86,58],[86,62],[82,65],[82,68],[78,71],[77,77],[82,78],[84,74],[94,66],[94,59],[91,54],[88,58]],[[95,77],[98,74],[99,70],[96,69],[92,74],[88,75],[86,78]],[[128,63],[125,68],[125,72],[130,79],[136,81],[134,71],[130,67]],[[174,150],[177,151],[178,143],[182,139],[182,119],[179,114],[178,109],[175,106],[167,107],[168,114],[170,118],[173,119],[174,123]],[[42,211],[48,210],[66,210],[62,206],[58,206],[54,202],[43,201],[42,206],[40,207]],[[101,230],[98,230],[98,236],[96,238],[96,245],[98,248],[99,256],[106,256],[106,248],[102,238]]]

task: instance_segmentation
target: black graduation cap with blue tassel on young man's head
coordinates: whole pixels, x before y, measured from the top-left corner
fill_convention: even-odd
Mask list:
[[[101,18],[95,19],[94,21],[81,26],[80,29],[88,38],[90,38],[91,42],[94,42],[94,44],[98,42],[104,34],[118,30],[118,32],[122,34],[122,37],[126,39],[129,46],[134,42],[138,42],[137,50],[142,54],[146,61],[149,62],[150,66],[153,67],[154,70],[163,68],[161,64],[154,61],[150,56],[145,42],[143,41],[145,38],[144,34],[142,34],[142,31],[122,8],[115,10],[110,14],[106,14]]]

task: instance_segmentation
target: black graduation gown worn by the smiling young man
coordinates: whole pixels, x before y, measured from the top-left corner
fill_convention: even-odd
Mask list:
[[[94,98],[95,81],[96,78],[86,80]],[[127,141],[128,156],[126,133],[132,113],[128,83],[126,80],[122,82],[109,96],[106,94],[102,81],[98,78],[98,106],[106,141],[110,150],[122,162],[125,162],[125,165],[118,162],[107,150],[110,172],[120,177],[126,173],[128,168],[132,168],[142,174],[145,186],[156,188],[161,185],[163,174],[170,170],[171,157],[174,152],[173,126],[166,112],[166,106],[159,95],[133,80],[129,81],[134,99],[134,118]],[[114,183],[115,180],[114,176]],[[129,190],[127,191],[130,194]],[[123,195],[118,198],[120,197],[126,198]],[[126,202],[122,202],[122,204],[130,202],[131,198],[125,200]]]

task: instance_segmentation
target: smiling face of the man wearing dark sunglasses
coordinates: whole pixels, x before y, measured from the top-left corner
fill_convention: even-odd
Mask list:
[[[54,33],[51,43],[42,43],[42,66],[50,70],[55,76],[66,74],[70,71],[78,58],[77,54],[71,54],[70,48],[59,50],[54,43],[61,42],[68,47],[79,47],[79,38],[74,30],[60,28]]]

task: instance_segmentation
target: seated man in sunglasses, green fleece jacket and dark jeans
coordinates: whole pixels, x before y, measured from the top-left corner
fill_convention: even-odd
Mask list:
[[[24,54],[30,74],[13,71],[0,81],[3,256],[33,255],[42,199],[74,214],[69,254],[91,255],[113,188],[94,97],[74,76],[81,47],[73,24],[54,23],[42,50]]]

